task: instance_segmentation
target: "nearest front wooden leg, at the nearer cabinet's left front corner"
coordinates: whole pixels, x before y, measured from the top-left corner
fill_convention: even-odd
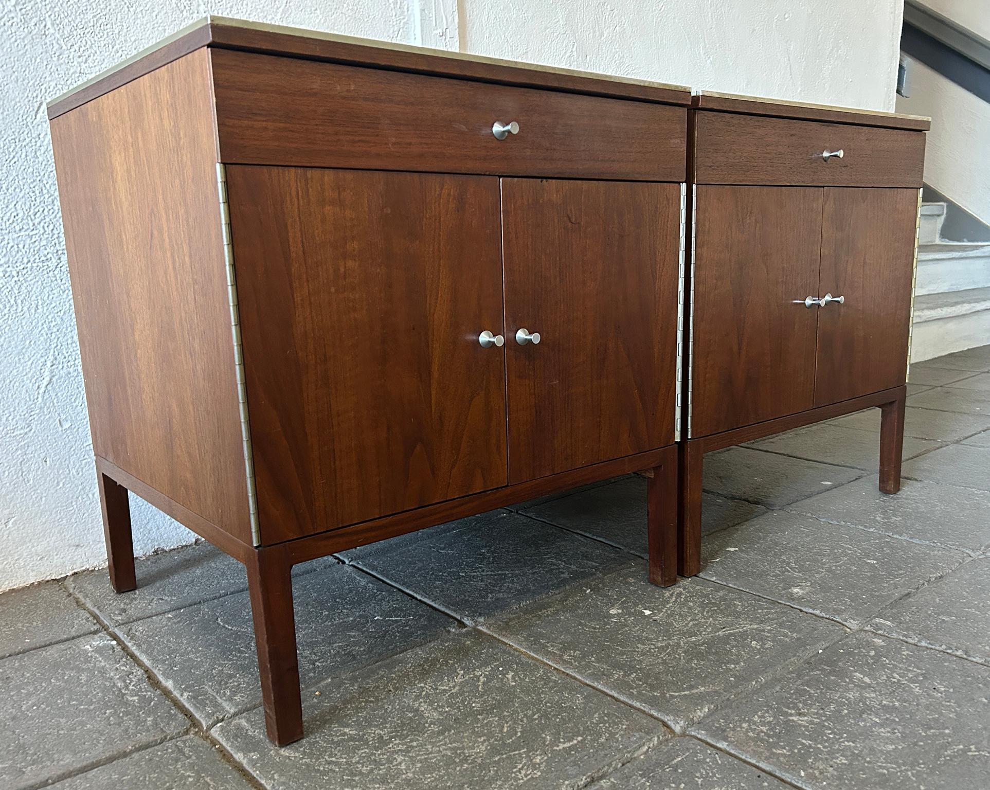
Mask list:
[[[284,746],[303,737],[292,565],[279,548],[258,548],[246,564],[264,724],[268,740]]]

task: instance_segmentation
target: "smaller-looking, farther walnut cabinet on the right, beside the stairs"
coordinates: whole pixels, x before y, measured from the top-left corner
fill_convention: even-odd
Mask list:
[[[691,115],[685,574],[705,451],[881,406],[880,488],[898,489],[928,128],[719,95]]]

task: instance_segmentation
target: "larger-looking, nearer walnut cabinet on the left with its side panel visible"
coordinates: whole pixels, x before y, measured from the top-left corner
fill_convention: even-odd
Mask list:
[[[208,21],[49,107],[111,577],[126,489],[247,565],[272,741],[295,563],[644,471],[674,581],[689,101]]]

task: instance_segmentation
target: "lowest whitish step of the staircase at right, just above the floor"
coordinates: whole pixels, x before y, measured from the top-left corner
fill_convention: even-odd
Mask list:
[[[911,361],[990,343],[990,287],[915,297]]]

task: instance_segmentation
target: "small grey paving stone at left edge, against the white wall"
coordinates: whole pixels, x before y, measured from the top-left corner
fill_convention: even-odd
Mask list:
[[[0,595],[0,658],[100,631],[58,582]]]

